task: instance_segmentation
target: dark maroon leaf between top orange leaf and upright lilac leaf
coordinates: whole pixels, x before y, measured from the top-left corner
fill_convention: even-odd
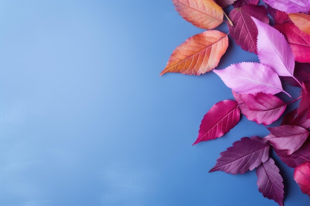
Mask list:
[[[230,11],[229,18],[234,25],[228,25],[228,29],[231,37],[242,49],[257,54],[256,45],[258,30],[251,16],[269,24],[267,9],[264,6],[245,4],[240,8],[234,8]]]

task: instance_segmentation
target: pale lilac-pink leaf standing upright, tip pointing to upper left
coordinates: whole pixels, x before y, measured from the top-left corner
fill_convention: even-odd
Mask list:
[[[252,17],[253,18],[253,17]],[[258,28],[258,58],[279,76],[293,77],[295,60],[285,37],[275,28],[253,18]]]

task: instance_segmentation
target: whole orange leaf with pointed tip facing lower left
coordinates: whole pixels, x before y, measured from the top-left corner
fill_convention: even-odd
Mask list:
[[[160,75],[168,72],[201,75],[214,69],[228,47],[226,34],[208,30],[195,35],[172,52]]]

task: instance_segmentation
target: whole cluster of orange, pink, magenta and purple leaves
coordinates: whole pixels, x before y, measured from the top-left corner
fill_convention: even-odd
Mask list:
[[[273,148],[286,165],[295,168],[295,181],[310,196],[310,1],[263,0],[262,5],[258,5],[259,0],[172,1],[185,20],[207,31],[177,46],[160,75],[213,71],[232,89],[235,98],[211,107],[194,144],[223,136],[238,124],[241,114],[258,124],[272,124],[282,117],[288,104],[300,101],[281,125],[267,127],[267,136],[243,137],[233,143],[220,154],[210,172],[242,174],[256,169],[259,192],[283,206],[283,178],[269,156]],[[231,4],[234,8],[227,16],[223,8]],[[213,30],[223,22],[228,25],[228,34]],[[228,35],[242,49],[256,53],[259,62],[214,70],[227,50]],[[300,97],[286,103],[276,96],[284,92],[291,97],[281,81],[301,87]]]

